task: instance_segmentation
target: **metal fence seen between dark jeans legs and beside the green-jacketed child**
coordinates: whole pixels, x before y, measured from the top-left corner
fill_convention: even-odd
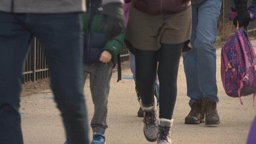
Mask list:
[[[128,48],[123,44],[120,51],[121,62],[129,61]],[[40,42],[34,38],[29,48],[29,53],[23,72],[23,82],[45,79],[50,76],[47,61]]]

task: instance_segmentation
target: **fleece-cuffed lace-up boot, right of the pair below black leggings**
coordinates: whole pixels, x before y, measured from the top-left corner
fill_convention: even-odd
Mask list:
[[[159,118],[157,131],[157,144],[171,144],[171,127],[173,119]]]

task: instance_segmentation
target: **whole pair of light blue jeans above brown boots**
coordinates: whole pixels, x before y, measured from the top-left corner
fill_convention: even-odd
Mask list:
[[[190,52],[183,53],[184,71],[187,80],[189,105],[203,98],[218,102],[216,84],[217,22],[221,0],[207,0],[192,4],[192,34]]]

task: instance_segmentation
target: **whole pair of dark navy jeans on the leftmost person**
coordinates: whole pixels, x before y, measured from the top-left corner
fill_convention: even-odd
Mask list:
[[[80,14],[0,12],[0,27],[0,143],[23,144],[19,115],[22,72],[34,36],[46,55],[69,144],[89,143]]]

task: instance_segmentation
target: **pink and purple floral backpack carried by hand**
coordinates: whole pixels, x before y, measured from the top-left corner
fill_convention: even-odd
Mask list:
[[[236,30],[221,51],[221,78],[225,92],[230,97],[256,95],[256,55],[247,33]]]

